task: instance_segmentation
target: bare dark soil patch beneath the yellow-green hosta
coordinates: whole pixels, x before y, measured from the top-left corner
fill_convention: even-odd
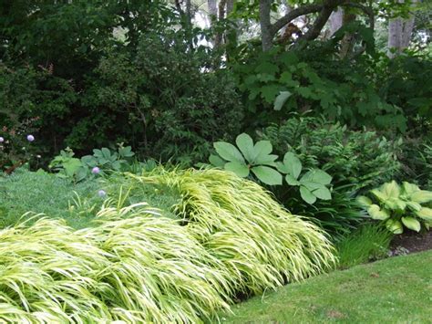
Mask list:
[[[432,249],[432,231],[427,233],[416,233],[407,231],[404,234],[396,235],[390,244],[392,256],[406,255]]]

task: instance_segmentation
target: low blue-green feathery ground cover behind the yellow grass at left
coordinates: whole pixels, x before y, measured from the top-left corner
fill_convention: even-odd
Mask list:
[[[133,190],[128,193],[131,186]],[[92,226],[92,220],[105,199],[98,196],[98,191],[106,191],[109,198],[118,198],[120,188],[123,194],[128,193],[125,204],[147,202],[163,210],[164,215],[174,217],[170,206],[180,196],[166,188],[147,183],[137,185],[124,176],[115,175],[72,183],[52,173],[19,169],[11,175],[0,176],[0,229],[34,214],[64,218],[67,225],[74,228]],[[33,214],[22,217],[26,212]]]

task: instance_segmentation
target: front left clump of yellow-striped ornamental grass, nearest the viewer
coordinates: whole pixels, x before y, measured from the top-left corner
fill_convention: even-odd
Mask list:
[[[228,309],[228,274],[178,222],[145,204],[97,221],[0,231],[0,322],[197,322]]]

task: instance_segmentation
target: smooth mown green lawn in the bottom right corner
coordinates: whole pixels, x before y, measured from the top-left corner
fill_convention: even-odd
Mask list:
[[[229,323],[432,323],[432,251],[387,258],[267,291]]]

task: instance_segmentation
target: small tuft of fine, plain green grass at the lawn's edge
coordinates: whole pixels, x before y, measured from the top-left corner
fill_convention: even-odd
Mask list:
[[[345,269],[386,257],[392,237],[381,225],[361,225],[335,245],[338,267]]]

